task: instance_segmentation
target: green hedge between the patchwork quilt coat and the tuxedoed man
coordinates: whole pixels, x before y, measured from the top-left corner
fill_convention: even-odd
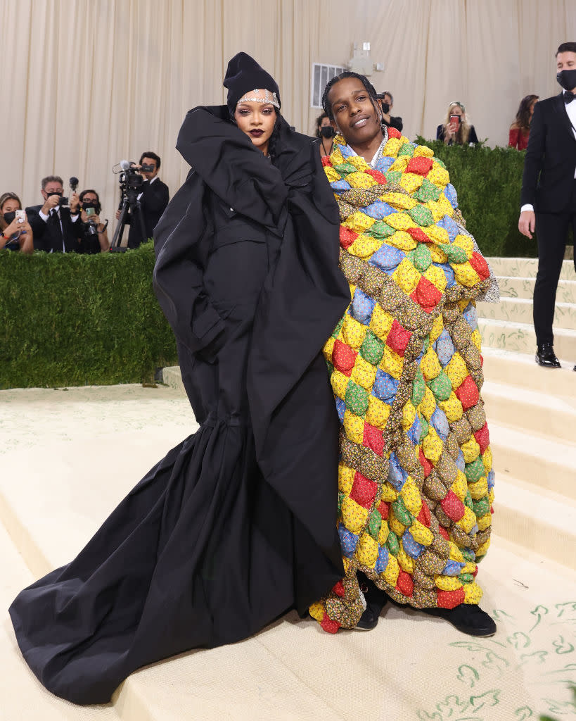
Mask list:
[[[518,231],[524,151],[446,146],[418,138],[446,164],[466,227],[485,255],[537,257],[536,237]]]

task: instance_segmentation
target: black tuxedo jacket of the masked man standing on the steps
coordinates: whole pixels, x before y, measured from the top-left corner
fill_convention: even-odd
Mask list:
[[[570,207],[575,169],[576,138],[560,93],[534,106],[520,204],[531,203],[540,213],[562,213]]]

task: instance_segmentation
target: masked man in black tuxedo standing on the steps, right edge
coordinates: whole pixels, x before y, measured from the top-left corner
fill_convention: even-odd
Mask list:
[[[576,43],[562,43],[556,60],[563,91],[534,106],[518,221],[523,235],[536,230],[538,240],[534,329],[536,363],[544,368],[560,367],[552,322],[570,226],[576,239]]]

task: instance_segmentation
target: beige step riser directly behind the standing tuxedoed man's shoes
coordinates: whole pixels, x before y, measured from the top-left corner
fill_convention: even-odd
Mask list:
[[[478,327],[483,347],[511,350],[513,353],[536,353],[536,333],[532,324],[479,318]],[[576,363],[576,330],[555,328],[554,350],[558,358]]]

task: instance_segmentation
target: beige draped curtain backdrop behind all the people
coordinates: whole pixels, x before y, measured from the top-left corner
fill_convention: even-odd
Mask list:
[[[102,216],[119,193],[112,165],[156,151],[175,193],[184,114],[225,101],[239,50],[279,83],[282,113],[312,133],[314,62],[344,65],[352,43],[384,63],[371,80],[394,94],[410,138],[435,137],[464,102],[480,138],[505,145],[524,95],[559,92],[554,52],[576,40],[574,0],[0,0],[0,193],[40,203],[40,179],[76,175]]]

